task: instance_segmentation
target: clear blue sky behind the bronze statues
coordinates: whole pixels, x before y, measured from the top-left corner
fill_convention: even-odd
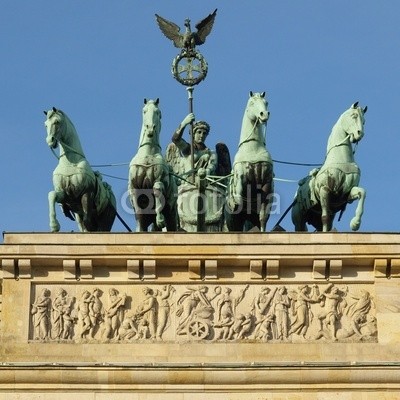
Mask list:
[[[367,190],[361,232],[398,231],[400,2],[396,0],[137,1],[2,0],[0,11],[0,229],[46,232],[47,194],[57,160],[45,142],[43,110],[64,110],[93,165],[129,162],[136,153],[144,98],[160,98],[165,148],[188,110],[185,87],[172,78],[178,49],[154,14],[183,26],[218,8],[199,50],[208,62],[195,88],[198,119],[211,125],[233,158],[250,90],[266,91],[271,117],[267,148],[276,160],[320,163],[339,115],[354,101],[368,105],[356,161]],[[274,165],[297,181],[310,167]],[[102,168],[118,211],[128,167]],[[280,213],[297,184],[276,181]],[[349,231],[354,205],[339,231]],[[59,211],[61,231],[76,230]],[[271,216],[267,230],[280,217]],[[282,222],[293,231],[290,216]],[[119,223],[113,231],[124,232]]]

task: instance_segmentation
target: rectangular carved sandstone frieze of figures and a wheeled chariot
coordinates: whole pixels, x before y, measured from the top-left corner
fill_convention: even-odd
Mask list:
[[[34,284],[29,340],[376,342],[373,285]]]

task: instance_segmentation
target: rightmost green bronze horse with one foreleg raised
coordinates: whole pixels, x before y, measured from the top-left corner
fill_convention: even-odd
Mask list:
[[[296,231],[306,231],[306,223],[318,231],[330,231],[335,214],[356,199],[359,201],[350,227],[359,229],[365,190],[358,186],[360,169],[354,161],[352,143],[364,136],[366,111],[367,107],[362,109],[357,102],[339,117],[328,139],[324,164],[299,182],[292,209]]]

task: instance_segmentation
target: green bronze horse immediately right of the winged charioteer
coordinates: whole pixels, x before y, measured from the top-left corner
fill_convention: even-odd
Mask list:
[[[225,221],[229,231],[252,227],[265,231],[274,190],[272,159],[265,143],[268,118],[265,92],[250,92],[228,185]]]

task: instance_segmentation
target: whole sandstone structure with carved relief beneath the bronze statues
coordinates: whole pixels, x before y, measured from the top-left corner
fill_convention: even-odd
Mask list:
[[[400,392],[399,234],[6,233],[0,259],[0,399]]]

